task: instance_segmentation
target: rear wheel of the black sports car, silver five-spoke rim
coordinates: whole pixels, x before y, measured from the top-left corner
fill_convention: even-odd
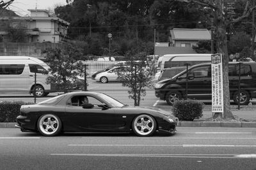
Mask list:
[[[40,134],[44,136],[56,136],[61,131],[61,120],[56,115],[42,115],[37,122],[37,128]]]

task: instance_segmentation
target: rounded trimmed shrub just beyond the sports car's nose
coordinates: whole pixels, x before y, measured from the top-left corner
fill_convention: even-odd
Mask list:
[[[204,103],[196,100],[180,100],[173,103],[173,115],[179,120],[193,121],[203,116]]]

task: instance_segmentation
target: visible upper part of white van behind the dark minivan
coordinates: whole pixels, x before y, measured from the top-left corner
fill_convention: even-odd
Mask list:
[[[163,70],[166,67],[184,66],[185,63],[194,65],[202,62],[211,62],[211,53],[166,54],[159,65]]]

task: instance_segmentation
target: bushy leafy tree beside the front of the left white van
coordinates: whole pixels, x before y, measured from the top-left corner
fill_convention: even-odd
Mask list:
[[[79,50],[68,45],[65,50],[47,48],[43,53],[51,67],[48,83],[56,83],[56,88],[64,92],[84,87],[84,81],[77,77],[84,73],[83,63],[78,61]]]

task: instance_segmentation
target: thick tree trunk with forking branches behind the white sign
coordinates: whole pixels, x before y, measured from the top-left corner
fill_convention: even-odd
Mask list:
[[[177,0],[176,0],[177,1]],[[202,8],[209,8],[212,10],[212,15],[214,17],[214,24],[216,26],[215,34],[216,34],[216,48],[217,53],[222,53],[223,55],[223,118],[225,119],[234,119],[232,111],[230,109],[230,93],[229,93],[229,81],[228,81],[228,48],[227,48],[227,27],[230,24],[234,24],[237,22],[241,22],[244,18],[248,18],[252,10],[256,8],[256,6],[252,6],[251,1],[246,1],[246,5],[243,10],[243,14],[239,15],[237,18],[232,18],[232,20],[228,20],[227,9],[224,8],[224,0],[216,0],[216,1],[207,1],[207,0],[178,0],[190,4],[200,5]],[[221,113],[214,113],[213,118],[221,118]]]

